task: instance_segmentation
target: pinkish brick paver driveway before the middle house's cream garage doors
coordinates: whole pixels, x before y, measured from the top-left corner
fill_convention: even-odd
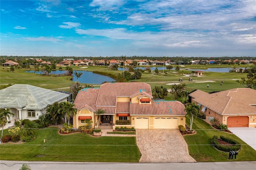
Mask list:
[[[196,162],[176,129],[136,129],[140,162]]]

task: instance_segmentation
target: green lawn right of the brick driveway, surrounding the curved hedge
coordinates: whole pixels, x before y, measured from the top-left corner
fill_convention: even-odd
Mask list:
[[[186,119],[187,125],[190,121]],[[193,129],[196,129],[196,134],[184,136],[188,144],[190,156],[198,162],[226,162],[226,161],[255,161],[256,151],[248,146],[244,141],[234,134],[215,130],[205,121],[197,118],[193,121]],[[226,136],[232,138],[242,144],[241,150],[238,152],[236,159],[228,159],[229,153],[216,150],[212,146],[212,136]]]

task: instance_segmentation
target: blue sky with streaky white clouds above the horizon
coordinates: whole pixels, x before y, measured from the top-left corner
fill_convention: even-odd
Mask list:
[[[256,56],[255,0],[0,0],[0,55]]]

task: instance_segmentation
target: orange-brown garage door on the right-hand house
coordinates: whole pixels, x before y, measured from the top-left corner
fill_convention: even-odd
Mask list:
[[[248,127],[248,116],[230,116],[227,119],[228,127]]]

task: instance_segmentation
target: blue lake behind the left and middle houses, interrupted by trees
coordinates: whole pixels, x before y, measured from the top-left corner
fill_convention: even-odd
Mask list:
[[[34,71],[26,71],[27,73],[34,73]],[[75,71],[74,71],[75,72]],[[76,71],[77,73],[83,73],[81,75],[81,77],[78,78],[79,83],[88,83],[88,84],[102,84],[104,81],[108,81],[108,82],[112,82],[112,81],[116,81],[108,76],[105,75],[99,75],[99,74],[95,74],[92,73],[91,71]],[[40,71],[36,71],[36,74],[42,74],[42,72]],[[67,71],[66,70],[56,70],[56,71],[51,71],[50,74],[66,74]],[[76,81],[76,76],[73,73],[72,74],[73,77],[73,81]]]

